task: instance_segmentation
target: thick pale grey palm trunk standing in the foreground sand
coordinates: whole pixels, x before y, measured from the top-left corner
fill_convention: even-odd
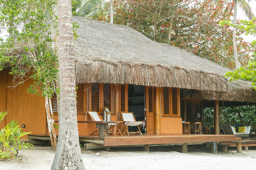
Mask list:
[[[59,137],[52,170],[84,170],[79,145],[71,0],[57,0],[59,30]]]

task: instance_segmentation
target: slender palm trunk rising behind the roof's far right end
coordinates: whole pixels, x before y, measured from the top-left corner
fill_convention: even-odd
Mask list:
[[[233,25],[236,25],[236,16],[237,16],[237,0],[234,0],[234,20]],[[233,28],[233,49],[234,49],[234,58],[236,68],[240,67],[241,64],[238,61],[237,47],[236,47],[236,28]]]

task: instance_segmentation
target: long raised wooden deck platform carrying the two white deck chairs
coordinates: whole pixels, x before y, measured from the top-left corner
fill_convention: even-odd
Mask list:
[[[29,139],[50,140],[47,135],[28,135]],[[152,144],[203,144],[211,142],[234,141],[235,135],[215,134],[143,134],[143,135],[98,135],[79,136],[80,142],[97,143],[103,146],[152,145]]]

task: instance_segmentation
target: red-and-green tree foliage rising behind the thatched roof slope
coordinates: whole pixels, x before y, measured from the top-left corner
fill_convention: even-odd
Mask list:
[[[232,3],[205,0],[120,0],[114,1],[114,21],[146,37],[183,48],[203,58],[234,68],[232,30],[219,27],[228,20]],[[243,32],[239,32],[239,37]],[[246,63],[251,46],[238,38],[240,62]]]

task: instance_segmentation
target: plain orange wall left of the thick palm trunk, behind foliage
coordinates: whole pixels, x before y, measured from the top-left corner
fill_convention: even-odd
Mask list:
[[[7,73],[6,70],[0,72],[0,91],[4,93],[4,81],[8,79],[7,85],[13,86],[12,76]],[[8,77],[2,76],[8,75]],[[28,87],[33,83],[33,80],[27,80],[23,85],[18,85],[16,88],[7,88],[7,103],[6,110],[9,112],[7,115],[6,123],[12,120],[17,120],[19,124],[25,124],[25,128],[22,128],[26,132],[32,132],[33,134],[46,134],[46,115],[44,107],[44,98],[35,94],[27,93]],[[2,96],[2,95],[1,95]],[[0,99],[0,109],[5,110],[2,103],[5,103],[3,99]],[[0,110],[0,111],[1,111]],[[2,125],[3,126],[3,125]]]

